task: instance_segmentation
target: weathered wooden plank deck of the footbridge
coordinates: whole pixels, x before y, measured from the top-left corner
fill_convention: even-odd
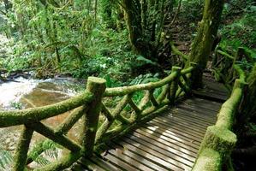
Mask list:
[[[223,93],[223,97],[214,101],[216,91]],[[223,89],[195,93],[196,97],[168,109],[122,139],[110,142],[104,153],[90,160],[80,159],[72,170],[191,170],[206,127],[215,124],[220,101],[228,97]],[[214,98],[201,98],[200,93]]]

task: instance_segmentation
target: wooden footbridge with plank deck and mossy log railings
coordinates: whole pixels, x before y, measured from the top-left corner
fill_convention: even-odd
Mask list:
[[[244,75],[240,73],[229,97],[222,86],[207,80],[208,89],[192,91],[194,69],[193,63],[183,70],[173,67],[164,80],[107,89],[105,80],[91,77],[77,97],[40,108],[1,111],[0,127],[24,125],[13,169],[26,169],[35,160],[31,151],[44,152],[39,145],[29,150],[37,132],[69,153],[36,170],[219,170],[236,142],[230,130]],[[71,113],[55,129],[41,122],[67,111]],[[77,142],[67,133],[79,120],[84,132]]]

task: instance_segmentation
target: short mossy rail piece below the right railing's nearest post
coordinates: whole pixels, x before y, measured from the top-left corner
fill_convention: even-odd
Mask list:
[[[219,171],[221,170],[221,156],[216,150],[203,150],[196,163],[193,171]]]

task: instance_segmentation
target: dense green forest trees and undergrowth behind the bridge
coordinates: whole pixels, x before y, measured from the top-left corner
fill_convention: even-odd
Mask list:
[[[0,71],[98,76],[113,87],[158,80],[172,66],[196,62],[194,88],[206,71],[232,90],[236,63],[247,91],[232,161],[247,170],[256,156],[255,16],[253,0],[1,0]]]

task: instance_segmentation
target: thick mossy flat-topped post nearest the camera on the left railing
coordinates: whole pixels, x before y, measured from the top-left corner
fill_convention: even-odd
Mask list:
[[[88,104],[88,111],[85,116],[85,130],[83,145],[85,147],[84,156],[92,156],[95,135],[98,127],[98,116],[101,111],[101,99],[106,89],[104,79],[89,77],[87,80],[86,90],[92,92],[93,100]]]

